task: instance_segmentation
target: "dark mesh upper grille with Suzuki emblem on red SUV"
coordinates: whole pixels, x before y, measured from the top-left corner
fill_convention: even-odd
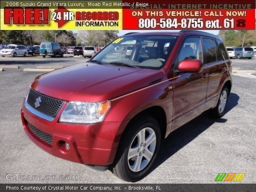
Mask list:
[[[39,101],[39,102],[38,102]],[[54,99],[30,89],[27,102],[34,109],[51,117],[56,117],[64,101]],[[38,106],[39,104],[39,106]]]

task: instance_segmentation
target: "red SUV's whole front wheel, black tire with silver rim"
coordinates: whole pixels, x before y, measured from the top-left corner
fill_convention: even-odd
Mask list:
[[[135,182],[144,178],[158,154],[161,132],[151,116],[140,116],[130,122],[120,140],[113,163],[113,173],[119,178]]]

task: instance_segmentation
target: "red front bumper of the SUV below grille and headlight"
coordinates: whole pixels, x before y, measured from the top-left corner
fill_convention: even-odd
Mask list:
[[[53,121],[48,121],[32,114],[23,105],[21,110],[23,128],[36,145],[59,158],[99,166],[113,162],[120,139],[118,130],[121,122],[61,123],[58,122],[60,114]],[[42,132],[51,135],[52,145],[36,136],[28,126],[28,122]],[[70,150],[63,150],[63,142],[68,143]]]

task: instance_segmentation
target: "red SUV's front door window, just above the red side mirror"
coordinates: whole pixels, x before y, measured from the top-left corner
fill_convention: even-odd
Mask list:
[[[178,56],[178,63],[182,60],[198,59],[202,61],[202,46],[199,37],[187,38],[182,44],[180,54]]]

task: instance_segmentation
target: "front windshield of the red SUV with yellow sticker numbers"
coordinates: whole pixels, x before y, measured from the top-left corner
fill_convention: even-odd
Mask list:
[[[161,69],[168,59],[176,38],[176,36],[164,35],[120,37],[92,60],[105,64],[129,64],[139,68]],[[128,54],[124,50],[131,50],[131,52]]]

